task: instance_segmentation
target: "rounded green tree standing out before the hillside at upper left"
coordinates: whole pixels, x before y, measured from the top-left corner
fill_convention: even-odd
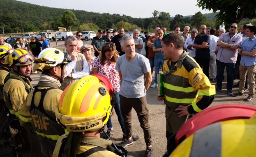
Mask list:
[[[71,10],[67,10],[63,13],[62,22],[65,27],[71,29],[77,22],[76,15]]]

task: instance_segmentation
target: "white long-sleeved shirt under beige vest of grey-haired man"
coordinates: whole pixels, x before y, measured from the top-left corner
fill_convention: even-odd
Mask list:
[[[67,55],[67,58],[71,60],[71,56]],[[67,72],[65,72],[64,77],[67,77],[74,69],[74,73],[71,74],[73,79],[81,79],[82,77],[90,74],[89,66],[86,59],[83,59],[83,70],[81,72],[76,72],[76,62],[74,61],[71,61],[70,63],[68,63],[65,66],[65,69]]]

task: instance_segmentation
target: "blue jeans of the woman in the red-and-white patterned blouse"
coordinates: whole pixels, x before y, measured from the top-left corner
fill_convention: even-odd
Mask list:
[[[125,133],[125,123],[124,123],[124,118],[122,116],[121,109],[120,109],[120,97],[119,97],[119,94],[120,94],[120,92],[115,92],[116,101],[117,101],[117,104],[115,105],[115,113],[118,116],[118,122],[119,122],[119,124],[121,126],[122,132]],[[111,122],[110,118],[108,119],[107,127],[108,127],[108,129],[112,128],[112,122]]]

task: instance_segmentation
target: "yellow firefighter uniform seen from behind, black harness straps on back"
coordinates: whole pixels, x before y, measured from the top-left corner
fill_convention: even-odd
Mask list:
[[[57,123],[54,108],[58,107],[62,90],[56,83],[48,83],[46,78],[51,76],[42,74],[44,81],[40,81],[32,92],[28,94],[25,105],[22,106],[19,119],[20,124],[26,127],[31,123],[33,129],[41,137],[41,150],[45,156],[51,157],[58,138],[67,133]],[[57,80],[56,80],[57,81]]]

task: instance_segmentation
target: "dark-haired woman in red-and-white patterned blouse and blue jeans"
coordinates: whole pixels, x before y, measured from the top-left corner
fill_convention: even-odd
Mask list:
[[[102,74],[106,76],[112,83],[118,103],[115,105],[115,113],[118,116],[118,121],[122,128],[122,132],[125,133],[125,124],[120,110],[119,94],[120,94],[120,78],[118,71],[115,70],[115,63],[118,59],[118,52],[115,47],[115,43],[108,42],[101,48],[101,54],[97,56],[92,62],[92,74]],[[111,119],[108,119],[107,134],[110,136],[114,133]]]

